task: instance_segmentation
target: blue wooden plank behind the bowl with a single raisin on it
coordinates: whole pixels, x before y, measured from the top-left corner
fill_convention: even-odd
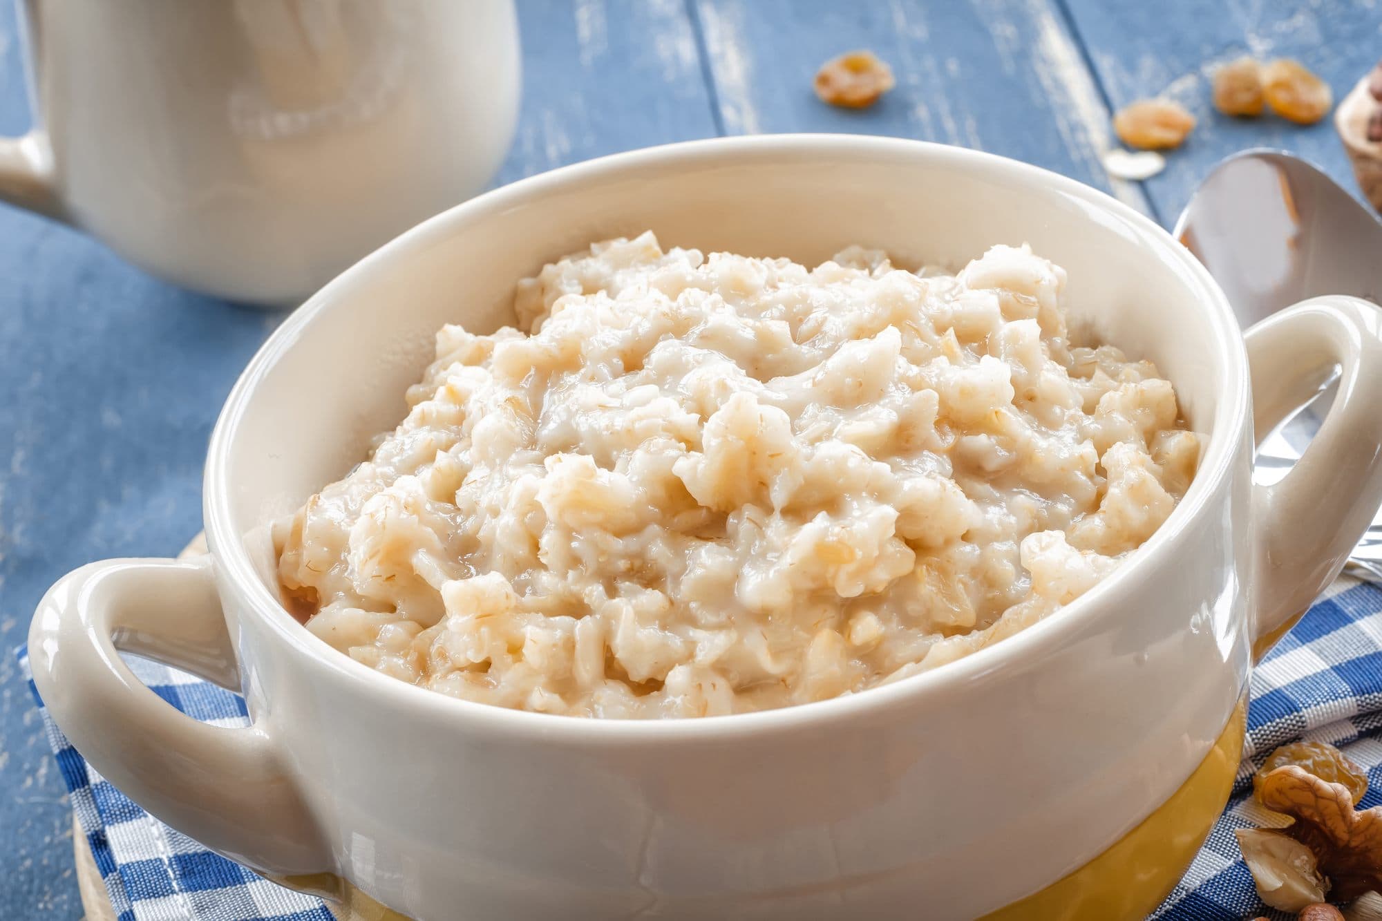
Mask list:
[[[1066,173],[1146,210],[1108,177],[1108,111],[1064,18],[1043,0],[822,3],[692,0],[726,131],[891,134],[992,151]],[[897,89],[836,109],[815,69],[851,48],[887,61]]]

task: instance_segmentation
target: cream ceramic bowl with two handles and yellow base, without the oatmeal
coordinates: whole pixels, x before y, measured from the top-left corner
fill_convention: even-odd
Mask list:
[[[1068,270],[1075,322],[1175,383],[1209,436],[1200,473],[1133,559],[1059,614],[804,707],[514,712],[386,678],[304,631],[278,603],[264,523],[404,415],[444,322],[488,332],[510,319],[517,278],[650,227],[666,245],[808,264],[864,243],[958,267],[1030,242]],[[1382,496],[1382,415],[1360,398],[1382,393],[1379,318],[1318,299],[1245,350],[1213,281],[1151,221],[963,149],[777,136],[567,167],[409,231],[285,322],[211,438],[210,556],[64,578],[35,617],[35,680],[97,770],[171,826],[422,918],[1146,911],[1227,797],[1253,644],[1338,573]],[[1253,423],[1265,434],[1336,364],[1320,437],[1255,487]],[[253,726],[177,714],[112,636],[243,690]],[[1121,902],[1100,895],[1113,889]]]

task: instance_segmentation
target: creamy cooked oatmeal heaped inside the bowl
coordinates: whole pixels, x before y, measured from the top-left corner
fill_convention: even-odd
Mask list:
[[[1171,384],[1071,347],[1066,274],[596,243],[520,326],[437,335],[412,411],[278,528],[307,628],[456,697],[703,716],[836,697],[1028,626],[1166,519]]]

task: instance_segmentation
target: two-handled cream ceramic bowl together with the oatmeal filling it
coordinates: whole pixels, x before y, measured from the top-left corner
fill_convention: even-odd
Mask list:
[[[210,556],[66,577],[36,682],[174,827],[415,917],[1144,913],[1227,798],[1255,651],[1382,496],[1372,311],[1245,347],[1154,224],[970,151],[567,167],[286,321],[213,436]]]

